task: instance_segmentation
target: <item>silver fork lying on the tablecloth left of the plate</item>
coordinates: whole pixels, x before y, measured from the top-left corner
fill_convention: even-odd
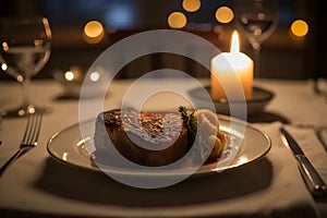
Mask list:
[[[31,148],[37,146],[37,140],[40,132],[43,114],[39,112],[32,113],[28,117],[24,136],[20,149],[0,168],[0,177],[8,169],[8,167],[24,155]]]

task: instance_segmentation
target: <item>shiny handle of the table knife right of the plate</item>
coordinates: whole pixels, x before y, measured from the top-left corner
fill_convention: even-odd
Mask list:
[[[326,184],[324,183],[323,179],[319,177],[315,168],[311,165],[308,159],[303,155],[296,155],[295,158],[299,162],[299,168],[304,178],[304,181],[312,194],[315,196],[322,196],[326,194]]]

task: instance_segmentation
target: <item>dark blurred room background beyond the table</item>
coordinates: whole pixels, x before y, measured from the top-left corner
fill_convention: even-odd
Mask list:
[[[232,8],[232,0],[202,0],[199,11],[190,13],[183,11],[182,0],[1,0],[0,15],[38,14],[49,19],[52,29],[51,57],[35,76],[49,78],[53,69],[68,69],[70,65],[87,68],[102,50],[125,36],[147,29],[169,28],[167,17],[172,11],[181,11],[186,15],[187,25],[182,31],[201,35],[225,51],[229,41],[216,38],[214,29],[218,26],[220,32],[228,32],[234,26],[233,23],[218,23],[215,11],[220,5]],[[280,0],[279,3],[279,26],[263,44],[261,76],[298,80],[327,77],[327,17],[323,0]],[[295,19],[305,20],[310,26],[307,36],[302,39],[294,39],[289,35],[289,27]],[[83,27],[90,20],[100,21],[107,31],[106,40],[100,44],[89,45],[83,40]],[[203,28],[204,25],[206,28]],[[244,45],[242,50],[252,56],[249,45]],[[137,71],[145,70],[138,68],[143,65],[142,61],[148,58],[160,59],[162,56],[165,55],[154,55],[135,60],[119,76],[138,76],[141,72]],[[179,57],[167,57],[174,59],[173,62],[179,60]],[[162,65],[162,62],[155,61],[152,69],[147,70],[179,68],[173,64]],[[133,73],[131,68],[134,69]],[[209,72],[192,72],[192,69],[189,69],[190,73],[196,76],[209,75]],[[0,72],[0,80],[13,78]]]

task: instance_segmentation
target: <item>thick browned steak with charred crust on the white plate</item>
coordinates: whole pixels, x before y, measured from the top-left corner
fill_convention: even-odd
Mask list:
[[[121,110],[110,110],[100,113],[97,118],[95,146],[98,152],[106,153],[108,158],[113,158],[110,150],[114,146],[122,156],[132,162],[159,167],[172,164],[187,153],[187,129],[183,125],[180,114],[165,112],[142,112],[137,114],[133,110],[123,112]],[[135,116],[140,116],[141,119],[135,120]],[[162,121],[165,116],[170,119]],[[126,125],[123,124],[122,120],[125,121]],[[137,123],[138,128],[133,123]],[[142,126],[143,132],[140,131],[140,126]],[[162,133],[164,129],[166,135]],[[169,143],[171,140],[172,144]],[[135,141],[137,144],[147,145],[147,147],[157,147],[157,150],[138,146],[134,143]],[[160,147],[166,147],[167,143],[171,145],[160,149]]]

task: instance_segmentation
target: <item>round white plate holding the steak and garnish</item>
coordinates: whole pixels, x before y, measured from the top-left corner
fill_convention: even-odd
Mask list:
[[[220,172],[222,170],[237,168],[243,166],[245,164],[252,162],[254,160],[259,159],[261,157],[265,156],[271,146],[269,137],[262,133],[261,131],[252,128],[249,123],[240,121],[238,119],[231,119],[229,117],[219,116],[220,119],[220,130],[227,132],[232,136],[232,141],[227,145],[229,149],[237,150],[237,155],[234,156],[233,160],[227,165],[218,165],[209,164],[201,167],[194,174],[208,174],[213,172]],[[83,125],[92,125],[94,126],[93,122],[84,122]],[[235,126],[235,129],[241,128],[245,130],[244,140],[241,144],[241,147],[237,147],[233,142],[235,140],[240,140],[238,136],[240,133],[235,130],[231,130],[229,126]],[[47,144],[48,153],[55,159],[65,162],[71,166],[81,167],[84,169],[93,170],[93,171],[101,171],[89,158],[88,152],[92,152],[94,148],[85,146],[85,142],[92,141],[92,136],[86,138],[82,138],[80,124],[76,123],[57,134],[55,134]],[[235,143],[237,144],[237,143]],[[233,150],[233,152],[234,152]],[[227,158],[222,161],[228,160]],[[221,160],[219,161],[219,164]],[[110,173],[117,173],[121,175],[146,175],[146,177],[167,177],[167,175],[178,175],[180,173],[187,173],[187,169],[181,170],[169,170],[169,171],[156,171],[156,170],[135,170],[135,169],[123,169],[118,167],[110,167]]]

